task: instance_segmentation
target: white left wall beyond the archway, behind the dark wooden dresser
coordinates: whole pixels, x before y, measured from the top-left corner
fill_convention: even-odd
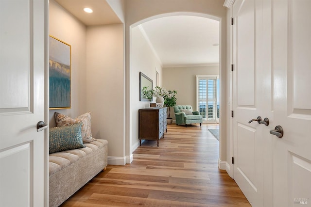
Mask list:
[[[131,153],[139,146],[138,109],[147,107],[149,101],[139,101],[139,72],[153,80],[155,87],[155,70],[161,75],[162,67],[138,27],[131,32]],[[155,101],[154,101],[155,102]]]

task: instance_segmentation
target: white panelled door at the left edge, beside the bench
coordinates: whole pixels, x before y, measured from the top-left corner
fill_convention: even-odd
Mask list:
[[[46,0],[0,0],[0,206],[48,204]]]

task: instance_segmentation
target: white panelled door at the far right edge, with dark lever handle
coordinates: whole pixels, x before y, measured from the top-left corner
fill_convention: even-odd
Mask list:
[[[273,1],[275,207],[311,207],[311,1]]]

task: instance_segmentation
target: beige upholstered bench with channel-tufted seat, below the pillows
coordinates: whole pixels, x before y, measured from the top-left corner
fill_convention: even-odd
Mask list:
[[[108,142],[55,152],[49,157],[49,206],[58,207],[107,166]]]

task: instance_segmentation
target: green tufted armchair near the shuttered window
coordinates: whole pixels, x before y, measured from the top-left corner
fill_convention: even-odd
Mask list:
[[[190,105],[176,105],[174,106],[174,112],[176,117],[176,125],[200,123],[202,126],[202,116],[199,111],[192,111]]]

